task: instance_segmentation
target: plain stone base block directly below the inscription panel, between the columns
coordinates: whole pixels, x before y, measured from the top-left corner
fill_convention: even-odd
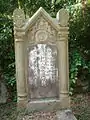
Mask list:
[[[38,100],[38,101],[30,101],[27,104],[27,111],[28,113],[30,112],[35,112],[35,111],[52,111],[52,110],[58,110],[60,109],[60,100]]]

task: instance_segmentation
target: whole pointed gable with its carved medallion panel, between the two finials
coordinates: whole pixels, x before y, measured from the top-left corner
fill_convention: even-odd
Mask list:
[[[27,25],[25,28],[28,29],[28,39],[30,38],[31,42],[56,40],[58,24],[55,24],[54,19],[42,7],[28,20]]]

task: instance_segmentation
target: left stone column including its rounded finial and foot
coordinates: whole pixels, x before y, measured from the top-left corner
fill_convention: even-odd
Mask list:
[[[15,61],[16,61],[16,83],[18,107],[24,107],[27,101],[26,79],[25,79],[25,32],[23,31],[24,12],[16,9],[14,17],[14,38],[15,38]]]

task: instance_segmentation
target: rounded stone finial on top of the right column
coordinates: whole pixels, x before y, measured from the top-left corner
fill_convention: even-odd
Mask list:
[[[57,20],[61,26],[67,26],[69,20],[69,13],[64,8],[62,8],[57,13]]]

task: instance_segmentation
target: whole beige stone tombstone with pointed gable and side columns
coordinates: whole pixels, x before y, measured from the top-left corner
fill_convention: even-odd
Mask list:
[[[65,9],[56,18],[42,7],[26,19],[22,9],[14,11],[18,107],[69,108],[68,20]]]

